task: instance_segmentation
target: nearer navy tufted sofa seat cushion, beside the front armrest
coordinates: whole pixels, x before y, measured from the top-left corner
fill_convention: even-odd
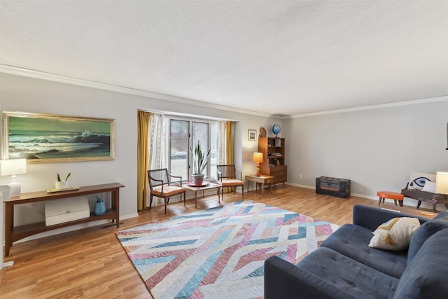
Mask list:
[[[325,247],[309,253],[297,267],[358,298],[393,298],[398,286],[395,277]]]

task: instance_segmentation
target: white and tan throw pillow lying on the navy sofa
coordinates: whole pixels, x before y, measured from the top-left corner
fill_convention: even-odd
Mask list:
[[[379,249],[400,251],[407,249],[412,234],[420,227],[419,219],[397,217],[379,225],[373,232],[369,246]]]

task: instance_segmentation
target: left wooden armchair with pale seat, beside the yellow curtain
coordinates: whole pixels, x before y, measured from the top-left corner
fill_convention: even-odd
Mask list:
[[[180,186],[174,186],[172,178],[179,178]],[[182,176],[172,176],[168,173],[168,169],[153,169],[148,170],[148,180],[149,188],[151,189],[151,200],[149,202],[149,209],[153,204],[153,196],[161,197],[165,201],[165,214],[167,214],[167,204],[169,202],[169,197],[174,195],[183,194],[183,202],[186,200],[187,189],[182,187]]]

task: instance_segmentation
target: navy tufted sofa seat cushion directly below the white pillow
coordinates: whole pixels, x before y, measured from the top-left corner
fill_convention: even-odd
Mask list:
[[[321,247],[333,249],[380,272],[400,278],[407,264],[407,251],[387,251],[369,247],[372,230],[344,224],[333,232]]]

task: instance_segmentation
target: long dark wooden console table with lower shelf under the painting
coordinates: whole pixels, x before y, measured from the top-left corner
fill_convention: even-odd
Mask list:
[[[120,183],[106,183],[102,185],[84,186],[79,190],[61,191],[55,193],[47,193],[47,191],[38,191],[31,193],[22,193],[19,196],[11,197],[5,200],[5,256],[9,256],[9,249],[13,246],[13,242],[25,237],[36,235],[40,232],[55,230],[56,228],[64,228],[65,226],[97,221],[103,219],[111,219],[116,221],[117,228],[120,227],[120,188],[124,185]],[[27,204],[29,202],[44,202],[45,200],[59,200],[66,197],[76,197],[95,193],[111,192],[111,209],[106,209],[103,215],[95,215],[90,213],[89,218],[78,219],[59,223],[55,225],[45,225],[45,221],[39,223],[31,223],[27,225],[14,226],[14,206],[16,204]]]

